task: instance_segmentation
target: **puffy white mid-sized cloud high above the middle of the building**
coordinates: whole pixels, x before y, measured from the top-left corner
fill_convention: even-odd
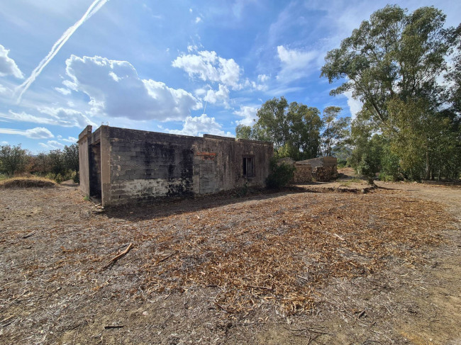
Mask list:
[[[189,77],[213,81],[240,89],[240,66],[233,59],[218,57],[216,52],[204,50],[197,54],[181,55],[172,62],[173,67],[184,69]]]

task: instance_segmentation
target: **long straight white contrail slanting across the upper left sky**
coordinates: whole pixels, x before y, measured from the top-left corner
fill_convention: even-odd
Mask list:
[[[40,61],[40,64],[38,64],[38,66],[35,67],[35,69],[32,71],[30,77],[28,77],[28,79],[26,79],[26,81],[24,81],[23,84],[16,88],[16,93],[19,90],[21,90],[17,99],[17,103],[21,102],[21,98],[24,92],[27,91],[29,86],[33,83],[33,81],[35,81],[35,78],[37,78],[40,75],[42,70],[52,60],[52,58],[55,57],[57,52],[60,51],[62,46],[67,42],[67,40],[69,40],[70,36],[72,36],[75,30],[77,30],[79,26],[81,26],[85,21],[87,21],[87,19],[93,16],[94,13],[99,11],[99,9],[101,9],[101,7],[104,6],[104,4],[106,4],[107,1],[109,0],[94,0],[93,3],[87,9],[87,12],[85,12],[85,14],[82,16],[82,18],[80,18],[79,21],[77,21],[77,23],[75,23],[73,26],[65,30],[65,33],[63,33],[60,39],[57,40],[56,43],[52,46],[50,52],[48,52],[48,55],[45,56],[43,60]]]

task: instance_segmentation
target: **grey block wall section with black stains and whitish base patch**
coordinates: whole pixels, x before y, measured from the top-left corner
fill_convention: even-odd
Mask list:
[[[192,193],[194,137],[109,128],[110,200],[123,204]]]

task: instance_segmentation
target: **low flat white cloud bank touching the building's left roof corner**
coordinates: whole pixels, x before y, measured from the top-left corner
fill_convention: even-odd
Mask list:
[[[30,122],[30,123],[43,123],[45,125],[60,125],[62,127],[79,127],[83,128],[87,125],[95,125],[95,123],[84,114],[73,109],[66,108],[38,108],[40,113],[46,114],[49,117],[30,115],[28,113],[15,113],[9,111],[9,113],[0,113],[0,118],[6,118],[8,120]]]

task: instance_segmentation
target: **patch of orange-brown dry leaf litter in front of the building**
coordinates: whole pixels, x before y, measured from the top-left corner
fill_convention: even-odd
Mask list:
[[[162,219],[180,225],[138,239],[152,243],[138,268],[143,288],[213,287],[229,314],[265,302],[306,312],[331,278],[367,276],[395,258],[421,263],[446,221],[438,205],[385,192],[321,199],[305,193]]]

